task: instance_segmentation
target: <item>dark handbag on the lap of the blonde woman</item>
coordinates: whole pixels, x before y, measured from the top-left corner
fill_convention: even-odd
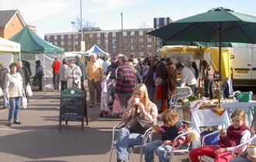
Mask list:
[[[135,107],[135,114],[130,123],[129,130],[131,133],[141,133],[144,134],[146,130],[153,126],[152,123],[148,120],[143,120],[139,117],[140,113],[138,113],[138,107]]]

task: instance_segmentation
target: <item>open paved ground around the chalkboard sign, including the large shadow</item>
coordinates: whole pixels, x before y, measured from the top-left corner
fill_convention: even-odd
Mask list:
[[[89,124],[69,122],[58,131],[60,93],[34,93],[26,110],[20,111],[22,125],[6,127],[8,110],[0,110],[1,162],[106,162],[112,127],[119,119],[99,118],[99,106],[88,107]],[[116,153],[113,154],[116,161]],[[136,159],[139,160],[138,154]],[[179,156],[178,161],[188,161]]]

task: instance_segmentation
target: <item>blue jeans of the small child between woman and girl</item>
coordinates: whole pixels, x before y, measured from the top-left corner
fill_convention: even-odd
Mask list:
[[[154,140],[150,143],[147,143],[145,153],[146,162],[154,161],[154,150],[156,150],[156,154],[158,155],[158,159],[160,162],[169,161],[171,146],[164,145],[162,140]]]

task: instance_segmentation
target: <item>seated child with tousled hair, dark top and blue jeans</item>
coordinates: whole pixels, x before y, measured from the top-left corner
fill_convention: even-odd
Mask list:
[[[153,129],[161,135],[161,140],[154,140],[147,143],[145,161],[153,162],[154,150],[158,155],[160,162],[168,162],[170,158],[171,147],[179,147],[185,143],[185,136],[178,138],[176,145],[172,146],[176,137],[183,133],[185,124],[179,121],[178,113],[175,110],[165,110],[161,115],[163,125],[161,127],[154,126]]]

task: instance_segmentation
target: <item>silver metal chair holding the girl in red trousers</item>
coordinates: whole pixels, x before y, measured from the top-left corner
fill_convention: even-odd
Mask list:
[[[216,130],[215,132],[209,133],[206,136],[202,137],[202,147],[203,147],[203,145],[205,143],[206,138],[210,137],[210,136],[213,136],[216,133],[220,133],[220,130]],[[233,160],[237,156],[237,154],[236,154],[237,149],[239,149],[240,147],[244,147],[244,145],[247,145],[247,144],[251,143],[251,140],[253,140],[253,139],[254,139],[254,132],[251,131],[251,138],[249,140],[245,141],[244,143],[240,143],[239,145],[234,147],[234,150],[233,150],[233,152],[231,154],[230,160]],[[203,156],[200,157],[200,161],[213,162],[214,161],[214,157],[209,157],[209,156],[203,155]]]

